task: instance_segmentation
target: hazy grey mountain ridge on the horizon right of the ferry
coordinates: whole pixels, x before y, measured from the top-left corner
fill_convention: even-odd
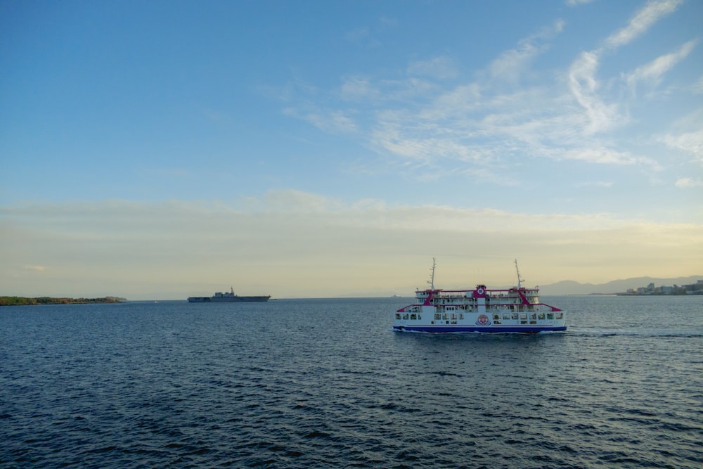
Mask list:
[[[602,293],[612,295],[614,293],[626,292],[628,288],[646,287],[650,283],[654,286],[689,285],[703,280],[703,275],[677,278],[654,278],[635,277],[625,280],[614,280],[608,283],[579,283],[572,280],[565,280],[549,285],[540,285],[540,295],[591,295],[592,293]]]

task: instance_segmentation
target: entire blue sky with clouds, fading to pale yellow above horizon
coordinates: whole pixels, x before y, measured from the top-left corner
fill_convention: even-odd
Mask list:
[[[0,295],[703,274],[702,18],[0,0]]]

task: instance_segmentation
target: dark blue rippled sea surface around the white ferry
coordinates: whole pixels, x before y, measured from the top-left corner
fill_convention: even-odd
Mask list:
[[[0,465],[703,467],[703,297],[566,333],[395,333],[410,299],[0,309]]]

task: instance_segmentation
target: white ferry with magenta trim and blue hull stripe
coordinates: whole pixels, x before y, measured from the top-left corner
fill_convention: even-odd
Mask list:
[[[517,268],[517,286],[491,289],[476,285],[474,290],[430,288],[415,291],[417,303],[396,311],[394,330],[430,333],[538,333],[567,330],[566,314],[539,302],[539,288],[524,288]]]

